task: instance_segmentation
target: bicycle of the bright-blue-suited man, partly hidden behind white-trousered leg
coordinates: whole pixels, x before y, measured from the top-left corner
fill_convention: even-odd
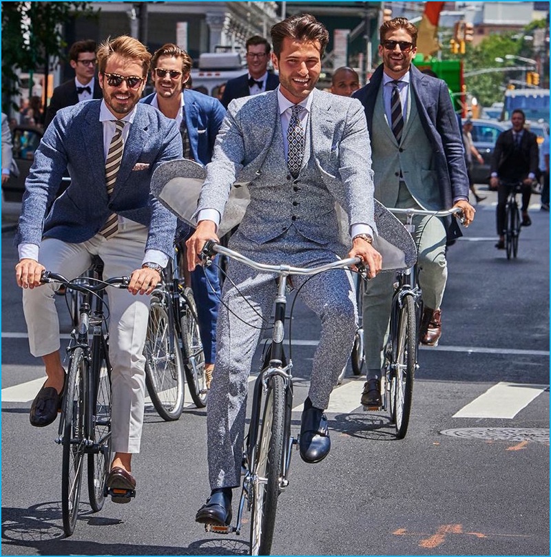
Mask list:
[[[177,420],[184,408],[185,383],[197,408],[207,405],[205,353],[191,288],[180,278],[180,250],[163,270],[152,293],[145,340],[145,384],[165,421]]]

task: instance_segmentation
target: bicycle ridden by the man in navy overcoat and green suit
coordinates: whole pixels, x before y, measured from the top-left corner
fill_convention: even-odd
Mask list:
[[[387,207],[395,215],[405,215],[404,227],[415,233],[415,216],[446,217],[461,212],[426,211],[424,209],[395,209]],[[419,326],[423,312],[422,291],[417,281],[417,262],[408,269],[397,272],[388,326],[388,339],[383,348],[384,373],[381,377],[382,406],[364,406],[364,410],[388,410],[391,423],[395,425],[397,439],[404,439],[408,431],[413,400],[413,381],[419,368]],[[362,299],[362,298],[360,298]],[[361,313],[361,306],[358,313]],[[363,329],[359,328],[363,337]],[[357,357],[354,356],[353,357]]]

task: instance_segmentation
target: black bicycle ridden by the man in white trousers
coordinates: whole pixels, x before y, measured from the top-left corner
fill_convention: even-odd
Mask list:
[[[129,277],[101,280],[103,262],[94,259],[92,277],[67,280],[44,271],[41,282],[59,282],[81,295],[79,324],[67,347],[69,366],[61,404],[59,437],[63,447],[61,514],[63,531],[71,536],[79,514],[84,459],[87,456],[88,498],[93,512],[103,508],[105,481],[111,465],[111,372],[107,316],[103,296],[107,286],[127,288]],[[93,305],[93,308],[92,308]],[[129,492],[128,496],[135,496]]]

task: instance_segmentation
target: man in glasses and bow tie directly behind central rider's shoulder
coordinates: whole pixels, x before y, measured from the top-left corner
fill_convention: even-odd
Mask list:
[[[234,98],[256,95],[264,91],[273,91],[280,84],[280,78],[268,72],[270,61],[270,43],[263,36],[254,35],[245,43],[247,49],[247,68],[249,73],[230,79],[222,95],[225,108]]]

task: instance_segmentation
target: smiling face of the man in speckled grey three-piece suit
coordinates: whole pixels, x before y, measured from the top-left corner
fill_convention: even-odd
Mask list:
[[[273,67],[279,71],[280,90],[291,103],[304,101],[322,71],[319,41],[298,41],[285,37],[279,59],[272,54]]]

